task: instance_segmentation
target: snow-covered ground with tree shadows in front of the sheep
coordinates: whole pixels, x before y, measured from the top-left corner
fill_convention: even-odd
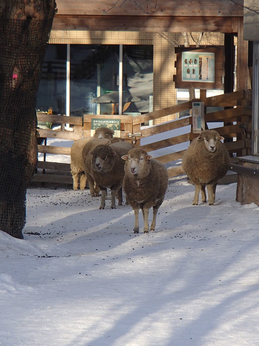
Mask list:
[[[130,206],[29,188],[24,240],[0,231],[0,345],[258,346],[259,207],[235,194],[192,206],[170,178],[136,235]]]

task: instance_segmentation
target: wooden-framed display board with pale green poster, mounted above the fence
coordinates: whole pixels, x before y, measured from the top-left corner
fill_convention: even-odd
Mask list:
[[[176,88],[223,89],[222,47],[176,48]]]

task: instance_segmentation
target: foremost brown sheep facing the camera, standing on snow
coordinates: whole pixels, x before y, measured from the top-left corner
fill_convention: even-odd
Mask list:
[[[139,233],[139,209],[141,209],[144,233],[148,233],[148,211],[151,207],[153,207],[153,219],[150,231],[154,231],[157,211],[163,203],[168,185],[167,170],[161,162],[152,159],[147,151],[141,148],[130,150],[127,155],[122,156],[122,159],[126,161],[123,190],[135,214],[133,231]]]

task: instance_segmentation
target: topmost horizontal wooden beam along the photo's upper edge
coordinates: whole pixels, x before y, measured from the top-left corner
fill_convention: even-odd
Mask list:
[[[56,0],[60,14],[102,16],[243,16],[243,0]],[[196,29],[196,28],[195,28]]]

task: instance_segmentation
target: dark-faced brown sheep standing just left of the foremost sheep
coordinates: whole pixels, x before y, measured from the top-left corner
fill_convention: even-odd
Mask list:
[[[105,208],[107,188],[111,189],[111,209],[116,208],[115,197],[118,197],[118,205],[122,205],[122,181],[124,177],[124,161],[122,155],[134,148],[128,142],[116,142],[110,145],[97,145],[93,150],[89,150],[87,143],[83,149],[83,160],[87,175],[90,192],[92,194],[93,184],[102,192],[101,205],[99,209]]]

